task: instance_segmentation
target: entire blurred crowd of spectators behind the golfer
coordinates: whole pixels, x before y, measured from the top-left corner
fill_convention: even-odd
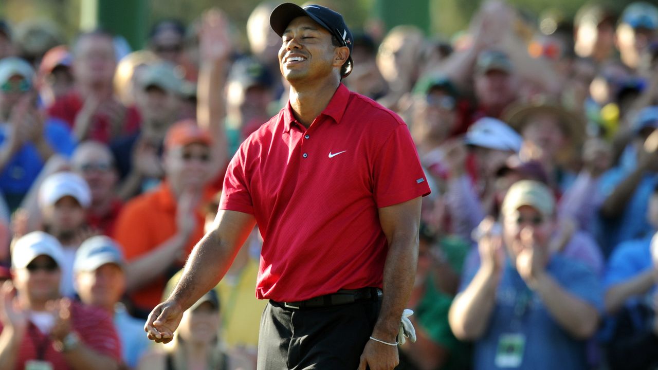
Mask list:
[[[276,5],[246,53],[216,9],[138,51],[0,20],[0,369],[255,369],[257,228],[174,341],[143,322],[288,103]],[[658,367],[658,7],[552,21],[488,0],[452,38],[353,32],[343,84],[403,117],[432,188],[399,369]]]

